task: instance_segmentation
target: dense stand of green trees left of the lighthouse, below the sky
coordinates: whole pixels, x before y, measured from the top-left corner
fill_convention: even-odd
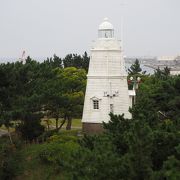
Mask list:
[[[81,61],[78,68],[87,66],[87,53],[74,58]],[[62,67],[56,55],[43,63],[27,57],[25,64],[0,64],[0,126],[5,125],[9,131],[12,120],[18,121],[16,131],[28,140],[43,133],[40,123],[44,116],[55,118],[57,129],[61,127],[59,118],[64,118],[70,129],[72,118],[82,114],[86,71]]]

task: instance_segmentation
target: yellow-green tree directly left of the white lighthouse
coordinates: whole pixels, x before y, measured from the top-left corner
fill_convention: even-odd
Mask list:
[[[57,69],[57,77],[61,79],[63,94],[63,114],[68,123],[66,129],[71,129],[73,117],[81,117],[86,85],[86,72],[74,67],[65,68],[62,73]]]

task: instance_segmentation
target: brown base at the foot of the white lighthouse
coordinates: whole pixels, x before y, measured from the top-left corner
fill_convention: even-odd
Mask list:
[[[85,134],[100,134],[104,128],[101,123],[82,123],[82,130]]]

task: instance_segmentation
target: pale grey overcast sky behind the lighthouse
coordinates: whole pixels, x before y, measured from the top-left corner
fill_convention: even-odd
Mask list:
[[[180,54],[180,0],[0,0],[0,57],[89,53],[104,17],[127,56]]]

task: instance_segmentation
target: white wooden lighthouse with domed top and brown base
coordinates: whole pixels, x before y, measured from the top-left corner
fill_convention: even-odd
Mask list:
[[[107,18],[99,25],[98,39],[91,49],[87,87],[83,110],[83,131],[102,131],[102,122],[110,120],[109,113],[129,113],[130,98],[122,49],[114,38],[113,25]]]

